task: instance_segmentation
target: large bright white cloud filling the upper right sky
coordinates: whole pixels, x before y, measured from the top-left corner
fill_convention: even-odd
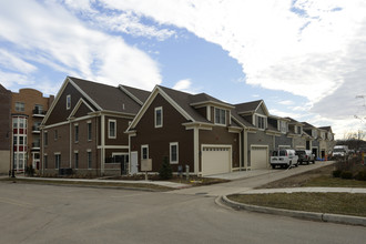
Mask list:
[[[349,82],[344,72],[352,67],[344,60],[360,38],[357,30],[366,12],[363,1],[103,2],[110,9],[130,10],[160,23],[186,28],[227,50],[243,65],[248,84],[288,91],[312,101]]]

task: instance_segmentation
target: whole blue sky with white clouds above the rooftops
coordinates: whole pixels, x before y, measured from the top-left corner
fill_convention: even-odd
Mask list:
[[[0,82],[55,94],[67,75],[263,99],[337,139],[366,131],[362,0],[0,2]]]

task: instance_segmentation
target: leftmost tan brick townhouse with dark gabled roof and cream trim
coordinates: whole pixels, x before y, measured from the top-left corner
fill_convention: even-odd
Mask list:
[[[42,173],[113,175],[128,171],[124,133],[150,92],[67,77],[41,124]]]

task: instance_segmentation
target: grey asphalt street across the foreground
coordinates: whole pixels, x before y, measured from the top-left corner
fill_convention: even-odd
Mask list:
[[[214,196],[0,183],[0,243],[363,243],[360,226],[234,211]]]

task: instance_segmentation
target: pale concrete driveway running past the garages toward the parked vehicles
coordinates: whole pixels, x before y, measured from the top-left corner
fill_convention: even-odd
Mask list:
[[[171,191],[171,194],[186,194],[186,195],[207,195],[207,196],[222,196],[234,193],[244,193],[254,187],[258,187],[266,183],[288,177],[295,174],[304,173],[306,171],[315,170],[322,166],[327,166],[335,163],[334,161],[316,162],[309,165],[299,165],[288,170],[257,170],[257,171],[243,171],[233,172],[228,174],[213,175],[213,177],[233,180],[228,183],[213,184],[200,187],[190,187]]]

